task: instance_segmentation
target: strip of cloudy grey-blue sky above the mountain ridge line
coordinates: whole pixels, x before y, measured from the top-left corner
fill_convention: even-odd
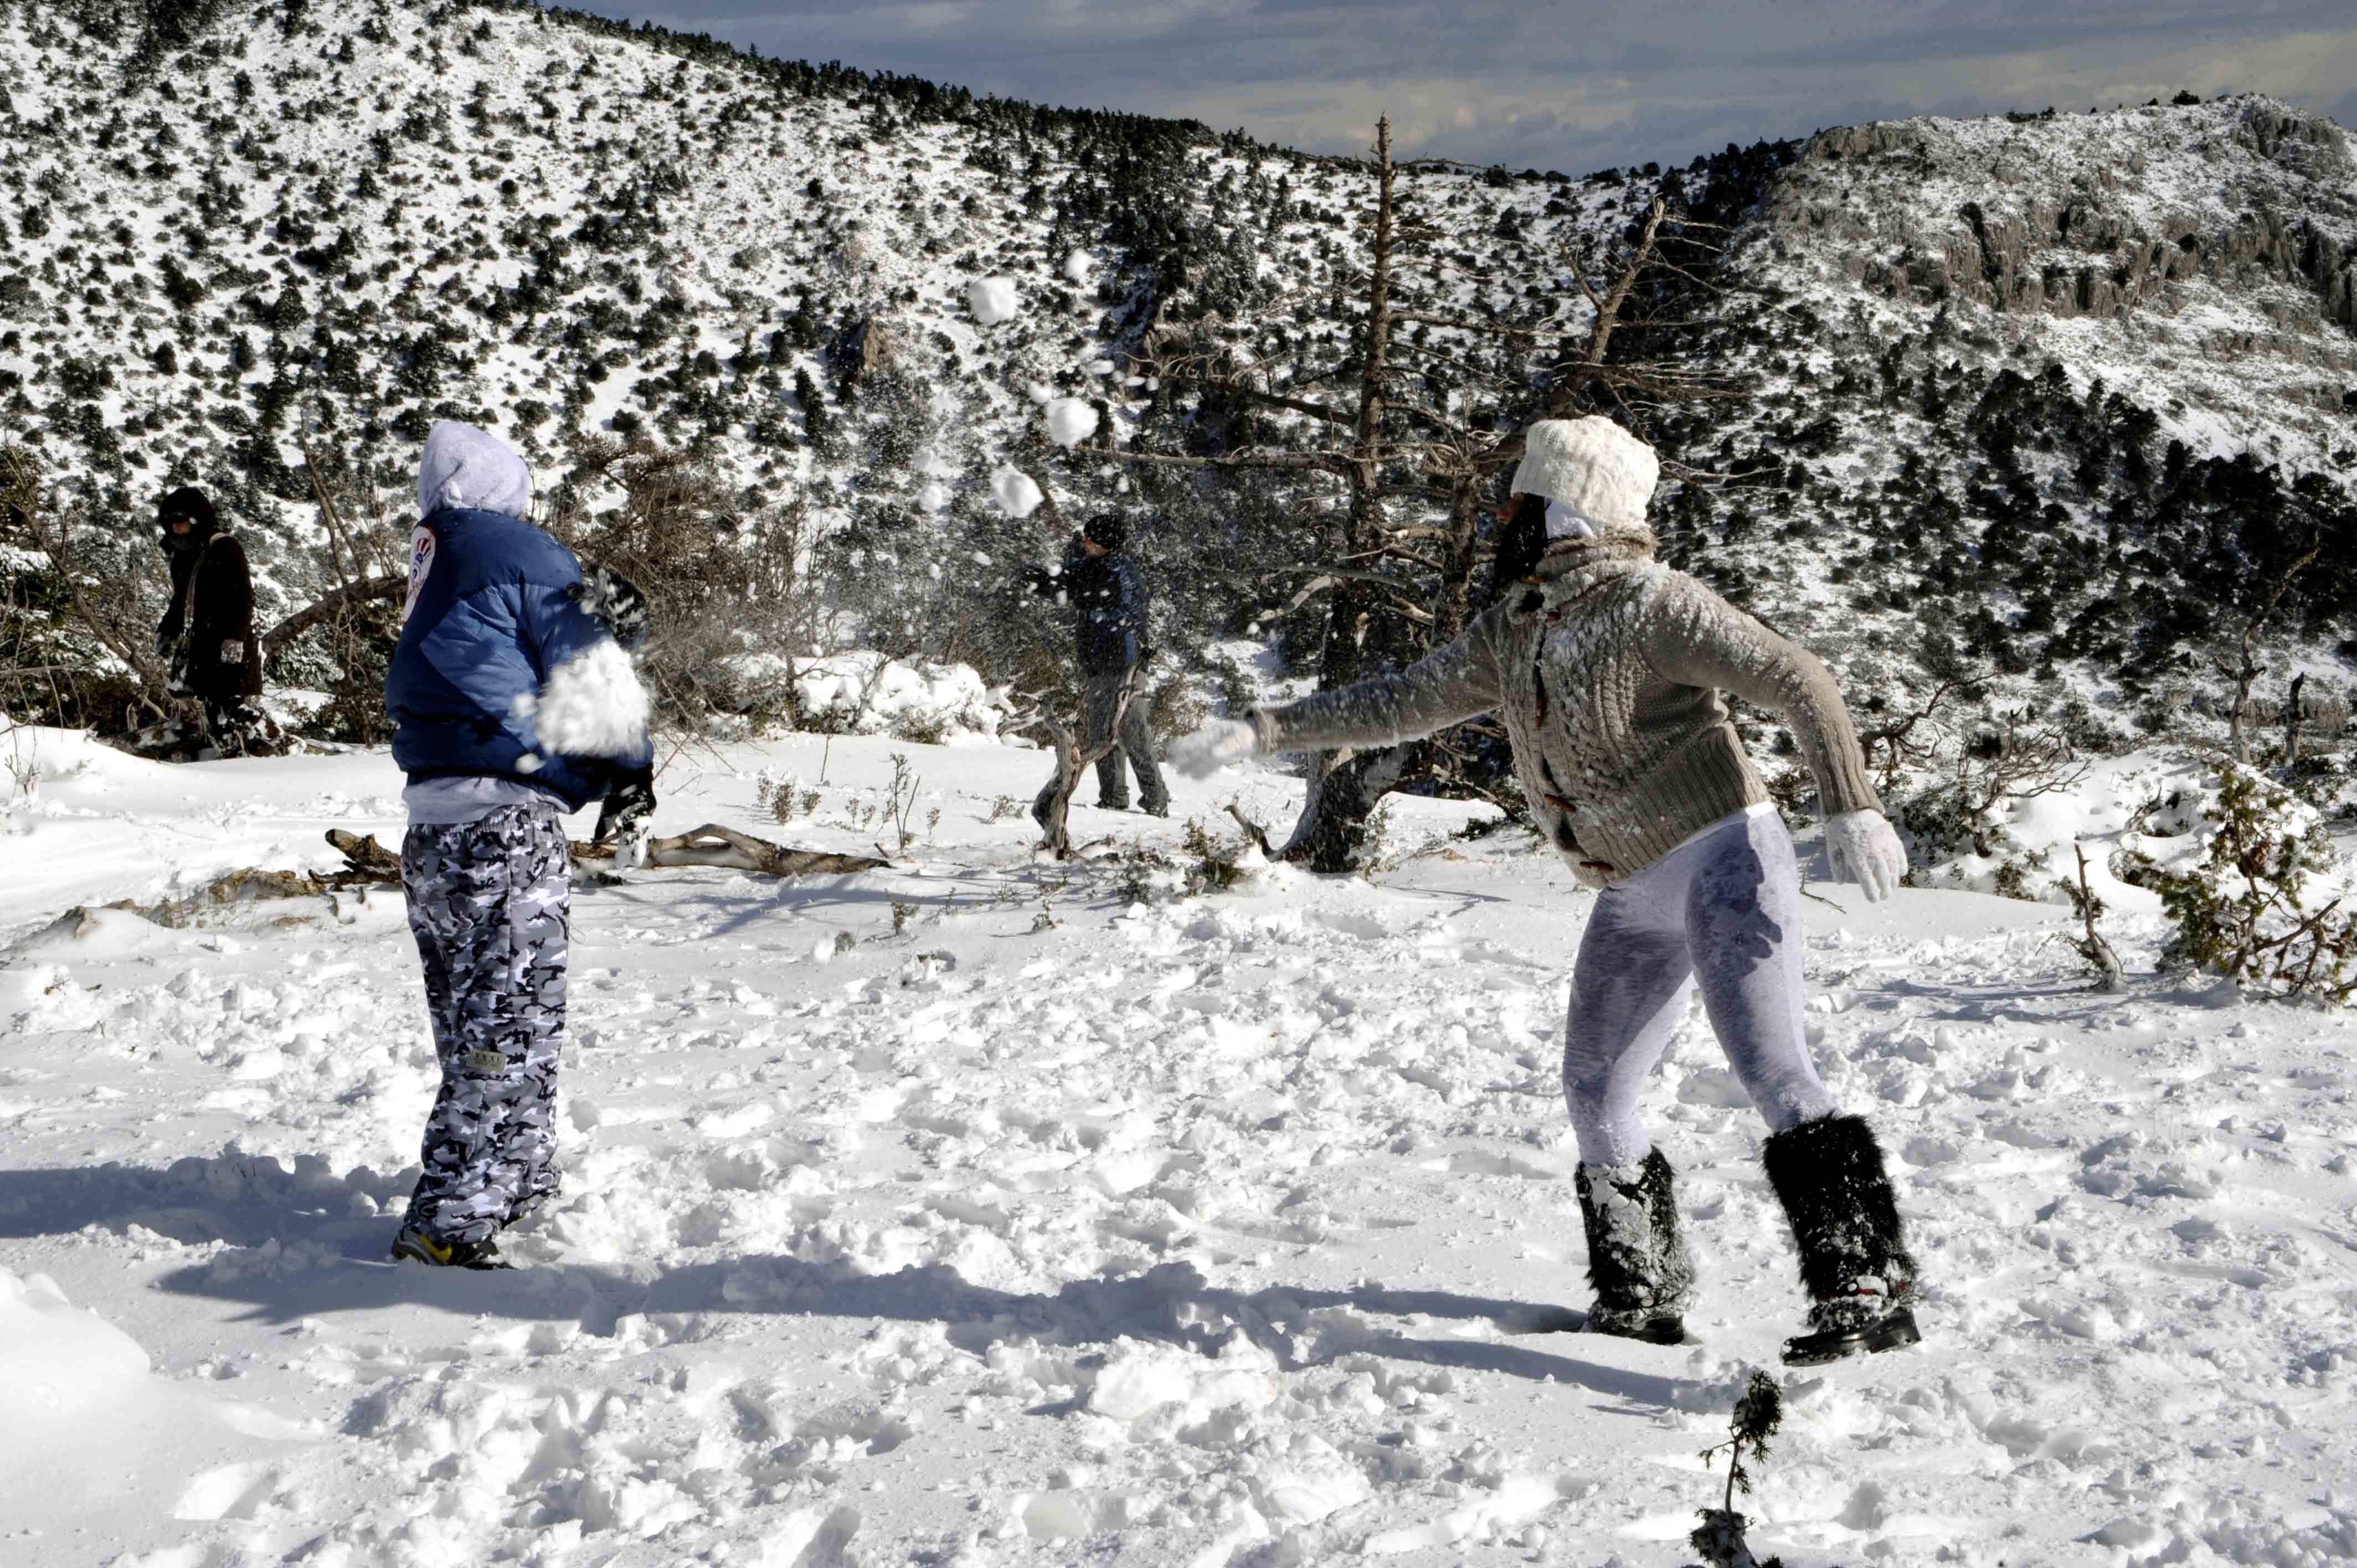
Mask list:
[[[785,59],[1306,151],[1586,172],[1909,113],[2272,92],[2357,123],[2352,0],[570,0]]]

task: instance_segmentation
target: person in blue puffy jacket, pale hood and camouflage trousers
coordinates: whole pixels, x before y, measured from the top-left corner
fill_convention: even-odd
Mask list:
[[[434,424],[384,705],[408,773],[401,882],[441,1054],[394,1257],[436,1266],[504,1269],[497,1231],[556,1193],[563,813],[603,799],[596,837],[627,842],[655,806],[646,689],[610,594],[523,521],[530,507],[516,453],[471,424]]]

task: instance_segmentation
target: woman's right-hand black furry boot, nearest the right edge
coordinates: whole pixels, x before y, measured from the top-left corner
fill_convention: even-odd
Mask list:
[[[1768,1186],[1801,1250],[1810,1332],[1784,1342],[1796,1368],[1916,1344],[1914,1259],[1883,1174],[1883,1151],[1857,1115],[1787,1127],[1763,1151]]]

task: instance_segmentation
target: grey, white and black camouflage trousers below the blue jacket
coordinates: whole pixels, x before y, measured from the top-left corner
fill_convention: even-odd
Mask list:
[[[478,1243],[556,1193],[573,905],[563,821],[502,806],[474,823],[415,823],[401,884],[443,1068],[408,1224]]]

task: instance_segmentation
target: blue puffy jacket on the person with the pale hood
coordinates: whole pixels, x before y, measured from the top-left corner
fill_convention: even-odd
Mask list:
[[[601,799],[653,766],[643,722],[596,755],[542,750],[535,722],[549,677],[601,665],[601,644],[613,632],[582,608],[570,549],[500,512],[436,512],[412,540],[410,608],[384,677],[394,762],[410,778],[514,778],[568,811]]]

